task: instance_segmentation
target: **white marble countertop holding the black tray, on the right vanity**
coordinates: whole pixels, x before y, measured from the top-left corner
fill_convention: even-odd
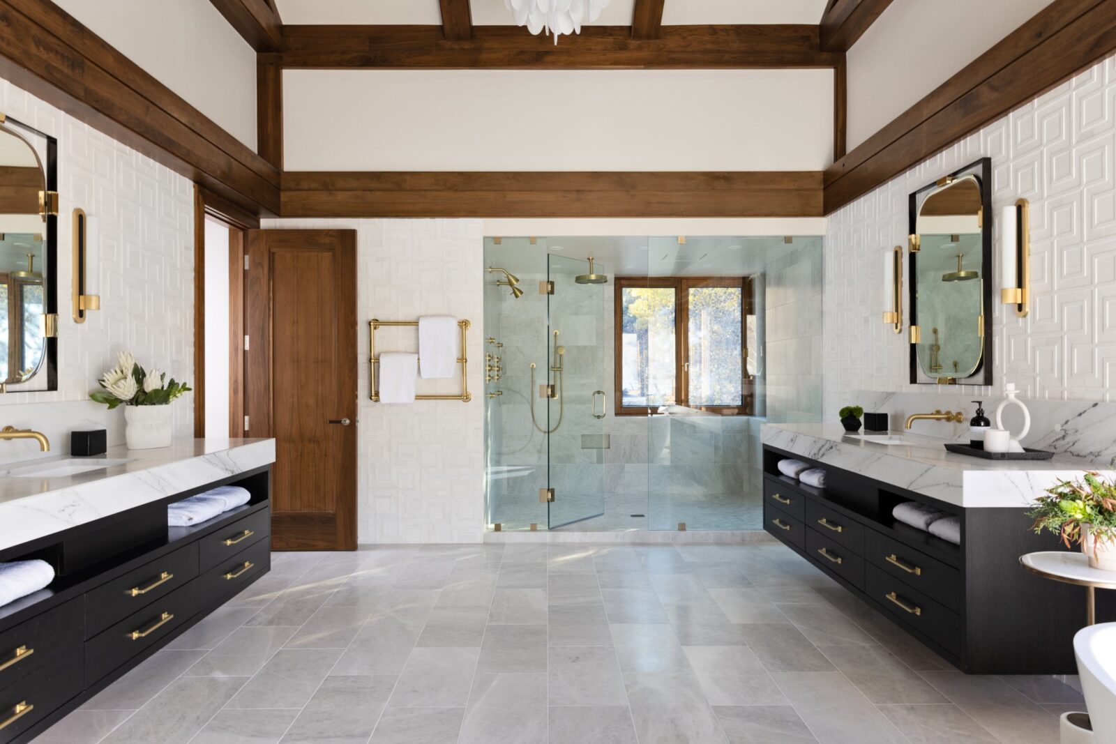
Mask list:
[[[878,433],[902,437],[904,444],[853,438],[840,424],[764,424],[762,432],[763,444],[958,506],[1027,506],[1047,487],[1080,477],[1086,471],[1116,476],[1112,470],[1074,457],[981,460],[959,455],[945,451],[946,439],[910,432]]]

